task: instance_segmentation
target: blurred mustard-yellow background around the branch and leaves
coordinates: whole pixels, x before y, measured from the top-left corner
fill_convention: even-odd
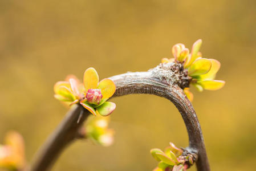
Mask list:
[[[100,79],[147,71],[173,44],[201,38],[206,58],[221,62],[219,91],[192,89],[212,170],[254,170],[256,162],[256,1],[0,1],[0,142],[14,129],[31,161],[67,108],[53,86],[68,74]],[[152,170],[149,153],[188,136],[172,103],[152,95],[112,99],[117,108],[108,147],[77,141],[52,170]],[[193,166],[190,170],[196,170]]]

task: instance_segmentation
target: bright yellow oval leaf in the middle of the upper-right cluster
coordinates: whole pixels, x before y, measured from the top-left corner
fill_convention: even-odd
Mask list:
[[[197,76],[206,74],[212,66],[212,62],[209,59],[200,58],[195,60],[188,68],[189,76]]]

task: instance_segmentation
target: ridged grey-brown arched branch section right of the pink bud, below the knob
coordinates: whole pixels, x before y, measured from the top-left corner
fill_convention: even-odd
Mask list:
[[[197,170],[210,170],[200,123],[191,102],[180,87],[175,84],[170,85],[167,82],[156,78],[152,75],[152,72],[133,72],[113,76],[110,79],[115,82],[117,87],[113,97],[133,93],[148,93],[165,97],[172,101],[181,113],[188,131],[189,147],[187,150],[198,154],[196,162]]]

